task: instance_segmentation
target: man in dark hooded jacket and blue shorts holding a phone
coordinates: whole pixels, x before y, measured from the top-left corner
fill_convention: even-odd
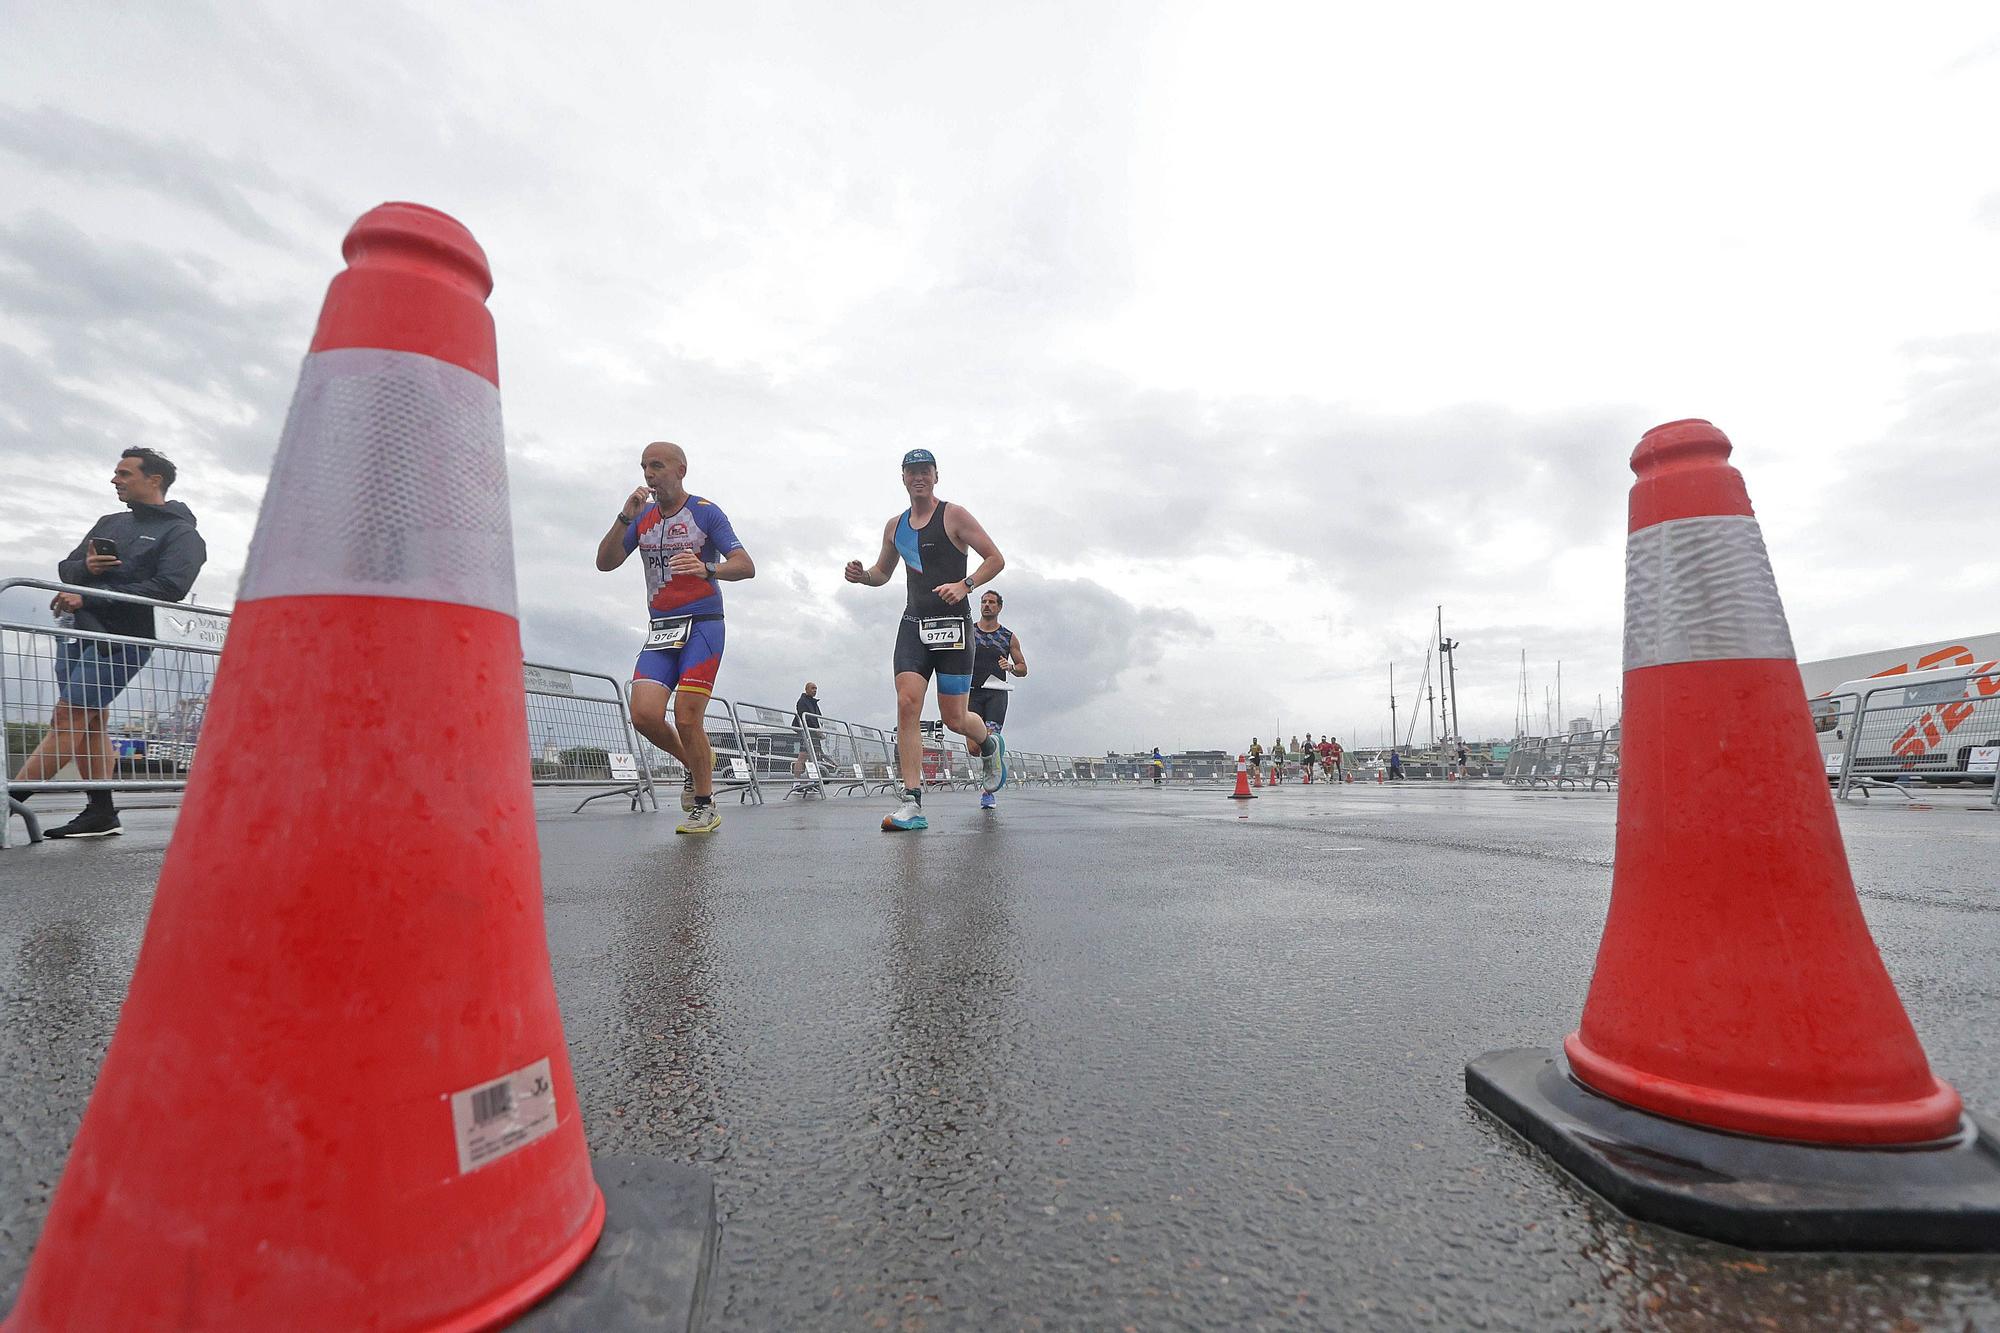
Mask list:
[[[184,600],[208,560],[208,544],[194,530],[194,512],[166,498],[174,476],[166,454],[124,450],[112,470],[112,490],[124,510],[98,518],[76,550],[56,564],[56,576],[82,588],[158,602]],[[150,642],[124,640],[152,638],[152,606],[80,592],[56,592],[48,606],[58,616],[70,616],[82,634],[104,638],[80,634],[56,640],[56,715],[12,781],[44,783],[74,761],[82,781],[102,783],[116,775],[104,715],[152,656]],[[30,793],[14,789],[8,795],[26,801]],[[50,829],[48,837],[102,839],[120,833],[112,793],[92,791],[86,801],[82,815]]]

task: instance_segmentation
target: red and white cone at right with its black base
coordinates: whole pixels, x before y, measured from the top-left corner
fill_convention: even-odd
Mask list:
[[[1730,442],[1632,454],[1610,919],[1582,1025],[1466,1065],[1634,1217],[1752,1249],[2000,1251],[2000,1141],[1930,1073],[1862,919]]]

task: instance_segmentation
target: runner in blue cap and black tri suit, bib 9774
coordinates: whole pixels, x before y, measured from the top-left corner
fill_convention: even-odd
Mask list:
[[[924,819],[924,737],[918,717],[924,691],[938,675],[938,717],[966,739],[966,753],[984,763],[982,787],[1006,785],[1006,743],[976,713],[966,709],[972,693],[972,616],[966,598],[972,588],[992,582],[1002,568],[1000,548],[964,506],[938,498],[938,460],[928,448],[902,456],[902,488],[910,508],[882,528],[882,554],[868,568],[848,560],[848,582],[880,588],[896,560],[908,568],[908,600],[896,628],[896,767],[902,771],[902,803],[882,821],[890,833],[928,829]],[[966,550],[978,552],[980,566],[966,574]]]

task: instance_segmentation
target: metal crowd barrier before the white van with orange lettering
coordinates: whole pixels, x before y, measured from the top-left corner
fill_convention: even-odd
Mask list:
[[[1834,711],[1846,721],[1846,709]],[[1846,745],[1828,757],[1828,777],[1838,797],[1854,791],[1908,787],[1992,787],[2000,811],[2000,669],[1986,664],[1948,681],[1898,685],[1894,677],[1862,691],[1852,721],[1838,727]]]

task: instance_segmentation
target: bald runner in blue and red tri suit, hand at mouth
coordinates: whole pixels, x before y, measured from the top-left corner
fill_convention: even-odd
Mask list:
[[[680,801],[688,819],[674,833],[714,833],[722,825],[714,805],[716,755],[702,713],[722,666],[718,582],[754,578],[756,564],[728,516],[712,500],[688,494],[688,454],[680,444],[648,444],[640,470],[646,484],[626,496],[618,522],[598,542],[598,568],[614,570],[640,552],[650,624],[632,669],[632,725],[688,771]]]

